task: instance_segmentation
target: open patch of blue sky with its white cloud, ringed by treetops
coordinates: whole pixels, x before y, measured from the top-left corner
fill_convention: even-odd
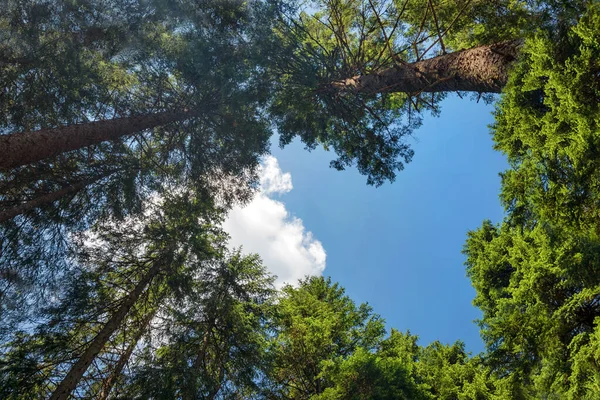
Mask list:
[[[280,276],[331,276],[389,328],[410,330],[420,344],[460,339],[467,350],[482,351],[461,249],[468,230],[503,215],[498,173],[507,164],[492,149],[491,111],[447,99],[441,116],[427,117],[409,139],[413,161],[380,188],[367,186],[354,169],[330,169],[333,154],[274,143],[271,161],[280,170],[269,193],[234,212],[226,229],[234,244],[259,252]]]

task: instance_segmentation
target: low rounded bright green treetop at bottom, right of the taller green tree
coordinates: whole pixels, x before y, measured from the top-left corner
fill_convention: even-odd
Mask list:
[[[462,343],[421,347],[416,336],[395,329],[375,351],[358,348],[349,357],[326,364],[323,375],[332,386],[314,398],[510,398],[481,358],[470,358]]]

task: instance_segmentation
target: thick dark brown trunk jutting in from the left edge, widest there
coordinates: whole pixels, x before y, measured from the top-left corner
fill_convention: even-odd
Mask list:
[[[197,113],[193,111],[165,111],[55,129],[0,135],[0,170],[31,164],[67,151],[116,140],[196,115]]]

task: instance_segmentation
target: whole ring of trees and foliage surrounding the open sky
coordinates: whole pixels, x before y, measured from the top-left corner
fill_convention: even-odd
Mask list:
[[[597,398],[599,60],[595,0],[4,1],[0,397]],[[484,352],[231,248],[275,133],[380,186],[455,95],[510,164]]]

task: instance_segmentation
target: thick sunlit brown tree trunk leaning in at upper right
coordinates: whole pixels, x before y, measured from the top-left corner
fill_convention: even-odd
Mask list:
[[[332,83],[352,93],[467,91],[499,93],[522,40],[512,40],[397,65]]]

